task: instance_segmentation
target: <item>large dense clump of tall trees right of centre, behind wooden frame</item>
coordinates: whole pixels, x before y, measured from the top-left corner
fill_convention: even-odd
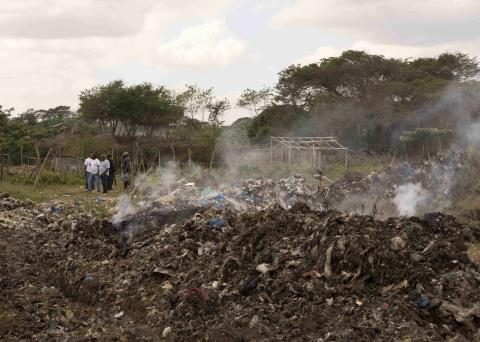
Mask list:
[[[228,140],[335,135],[350,148],[380,153],[448,143],[455,139],[446,131],[480,119],[479,71],[475,57],[459,52],[399,59],[349,50],[291,65],[268,91],[242,94],[239,105],[261,112],[234,123]]]

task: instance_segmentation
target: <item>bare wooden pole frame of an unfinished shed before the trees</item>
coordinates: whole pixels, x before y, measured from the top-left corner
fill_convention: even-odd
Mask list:
[[[277,152],[275,152],[277,151]],[[326,151],[345,153],[345,166],[348,166],[348,149],[335,137],[270,137],[270,162],[279,159],[289,165],[298,162],[309,162],[314,167],[322,167],[322,153]]]

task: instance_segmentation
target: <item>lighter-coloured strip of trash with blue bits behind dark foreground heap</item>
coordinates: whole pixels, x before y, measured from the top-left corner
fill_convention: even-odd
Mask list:
[[[185,179],[168,186],[144,180],[131,196],[120,198],[113,223],[138,234],[207,210],[251,212],[277,205],[288,210],[296,203],[313,210],[324,209],[317,189],[309,186],[300,173],[280,180],[249,179],[216,187],[197,186]],[[220,223],[219,219],[215,225]]]

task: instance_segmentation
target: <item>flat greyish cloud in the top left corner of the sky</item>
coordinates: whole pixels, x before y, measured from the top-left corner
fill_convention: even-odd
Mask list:
[[[119,37],[142,29],[152,0],[2,0],[0,36],[34,39]]]

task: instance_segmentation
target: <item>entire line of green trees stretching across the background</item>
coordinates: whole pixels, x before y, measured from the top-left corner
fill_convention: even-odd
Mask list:
[[[479,73],[477,59],[459,52],[400,59],[349,50],[288,66],[271,87],[245,89],[236,105],[250,115],[230,127],[223,116],[231,104],[213,88],[115,80],[81,91],[77,111],[57,106],[15,113],[0,106],[0,150],[39,158],[42,144],[59,135],[85,137],[87,145],[93,136],[109,135],[147,147],[197,146],[196,158],[208,162],[219,138],[250,145],[270,135],[335,135],[352,149],[415,151],[446,146],[460,125],[480,120]]]

